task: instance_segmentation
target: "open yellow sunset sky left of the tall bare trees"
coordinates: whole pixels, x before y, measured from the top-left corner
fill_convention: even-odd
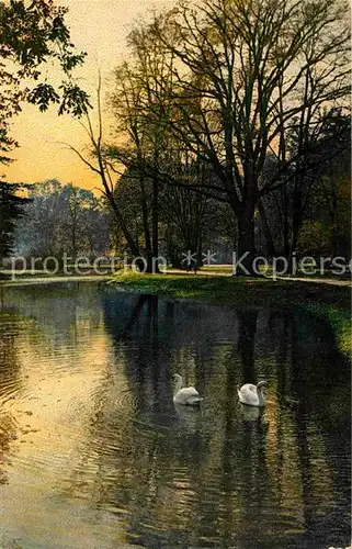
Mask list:
[[[112,70],[128,55],[126,36],[133,23],[148,18],[152,10],[171,8],[175,0],[57,0],[56,4],[69,9],[66,21],[72,42],[88,54],[84,66],[75,71],[75,77],[93,96],[100,69],[104,98]],[[58,77],[49,64],[43,67],[42,74],[49,80]],[[106,119],[106,133],[110,128],[111,122]],[[80,150],[89,143],[84,130],[69,115],[58,116],[55,108],[41,113],[34,105],[24,105],[13,120],[11,135],[20,148],[11,155],[15,161],[5,168],[5,180],[35,182],[57,178],[63,183],[89,189],[100,187],[99,178],[75,153],[58,143],[69,143]]]

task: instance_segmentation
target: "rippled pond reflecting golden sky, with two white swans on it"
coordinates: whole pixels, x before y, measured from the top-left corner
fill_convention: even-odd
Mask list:
[[[302,309],[0,290],[0,547],[350,541],[350,365]],[[175,408],[172,374],[202,396]],[[237,384],[269,382],[262,413]]]

